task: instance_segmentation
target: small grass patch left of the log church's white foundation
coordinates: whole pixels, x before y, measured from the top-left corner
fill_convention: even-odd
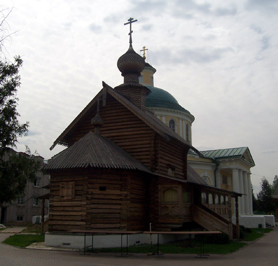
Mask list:
[[[21,235],[16,234],[13,236],[10,236],[6,240],[3,241],[3,243],[6,243],[8,245],[17,246],[17,247],[27,247],[30,244],[34,242],[44,242],[45,241],[45,235],[38,234],[38,235]]]

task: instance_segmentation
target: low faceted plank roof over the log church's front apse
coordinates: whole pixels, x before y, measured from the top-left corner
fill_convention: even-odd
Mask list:
[[[87,133],[72,146],[61,151],[44,167],[45,170],[66,168],[118,168],[151,171],[110,139]]]

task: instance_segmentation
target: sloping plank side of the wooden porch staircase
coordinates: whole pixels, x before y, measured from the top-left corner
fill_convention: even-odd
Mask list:
[[[197,222],[206,230],[226,233],[230,239],[233,239],[235,225],[229,220],[203,205],[194,205],[192,209],[194,222]]]

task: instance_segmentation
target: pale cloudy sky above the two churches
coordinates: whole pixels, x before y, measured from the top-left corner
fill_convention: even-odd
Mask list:
[[[49,159],[50,146],[102,89],[123,82],[118,58],[129,46],[157,69],[154,85],[195,117],[198,150],[248,146],[255,194],[278,175],[277,0],[2,0],[13,33],[4,55],[23,59],[19,138]]]

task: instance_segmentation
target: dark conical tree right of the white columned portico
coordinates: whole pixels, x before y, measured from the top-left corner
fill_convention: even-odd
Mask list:
[[[272,190],[268,180],[263,177],[261,180],[261,191],[257,195],[258,210],[270,214],[275,210],[275,205],[271,198]]]

